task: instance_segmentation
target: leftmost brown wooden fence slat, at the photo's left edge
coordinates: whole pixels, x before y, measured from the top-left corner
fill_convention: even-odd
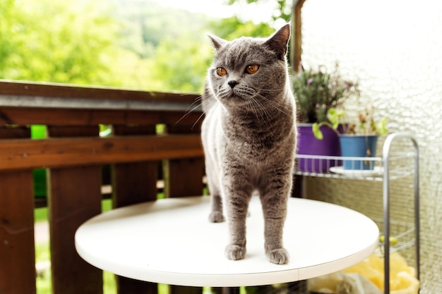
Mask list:
[[[0,144],[18,137],[29,128],[0,127]],[[32,170],[0,172],[0,264],[0,293],[36,293]]]

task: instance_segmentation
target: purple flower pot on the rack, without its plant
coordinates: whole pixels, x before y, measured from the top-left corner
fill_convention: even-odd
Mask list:
[[[323,140],[318,140],[313,135],[311,124],[301,123],[298,127],[298,152],[297,154],[324,155],[339,157],[340,145],[338,134],[328,126],[321,126]],[[341,164],[338,160],[327,159],[297,159],[299,171],[306,173],[324,173],[332,166]]]

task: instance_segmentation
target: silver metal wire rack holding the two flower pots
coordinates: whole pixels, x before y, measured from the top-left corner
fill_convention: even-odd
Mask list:
[[[412,152],[392,152],[396,140],[409,141]],[[414,164],[410,164],[410,159]],[[344,169],[350,166],[365,166],[364,169]],[[419,279],[419,148],[412,135],[394,133],[386,138],[380,157],[335,157],[310,154],[297,154],[297,167],[294,174],[323,178],[347,178],[356,180],[375,180],[383,182],[383,219],[374,219],[383,236],[378,254],[384,257],[384,293],[390,293],[390,254],[399,250],[415,247],[417,278]],[[414,223],[390,219],[390,182],[407,176],[413,177]],[[380,238],[381,239],[381,238]],[[300,289],[304,290],[304,289]],[[289,292],[291,293],[291,292]],[[294,292],[306,293],[306,292]]]

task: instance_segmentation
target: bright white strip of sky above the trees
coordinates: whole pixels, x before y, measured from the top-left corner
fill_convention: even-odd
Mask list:
[[[182,8],[191,12],[205,13],[208,16],[227,18],[238,16],[242,20],[253,20],[256,23],[265,23],[272,20],[275,11],[275,1],[261,1],[260,4],[244,5],[235,3],[231,6],[225,0],[157,0],[162,6]],[[242,3],[242,2],[241,2]]]

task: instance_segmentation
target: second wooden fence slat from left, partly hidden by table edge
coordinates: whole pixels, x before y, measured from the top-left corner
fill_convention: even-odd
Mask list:
[[[49,137],[98,136],[94,126],[48,126]],[[78,226],[101,212],[101,167],[49,169],[49,231],[53,293],[102,293],[102,271],[77,254]]]

